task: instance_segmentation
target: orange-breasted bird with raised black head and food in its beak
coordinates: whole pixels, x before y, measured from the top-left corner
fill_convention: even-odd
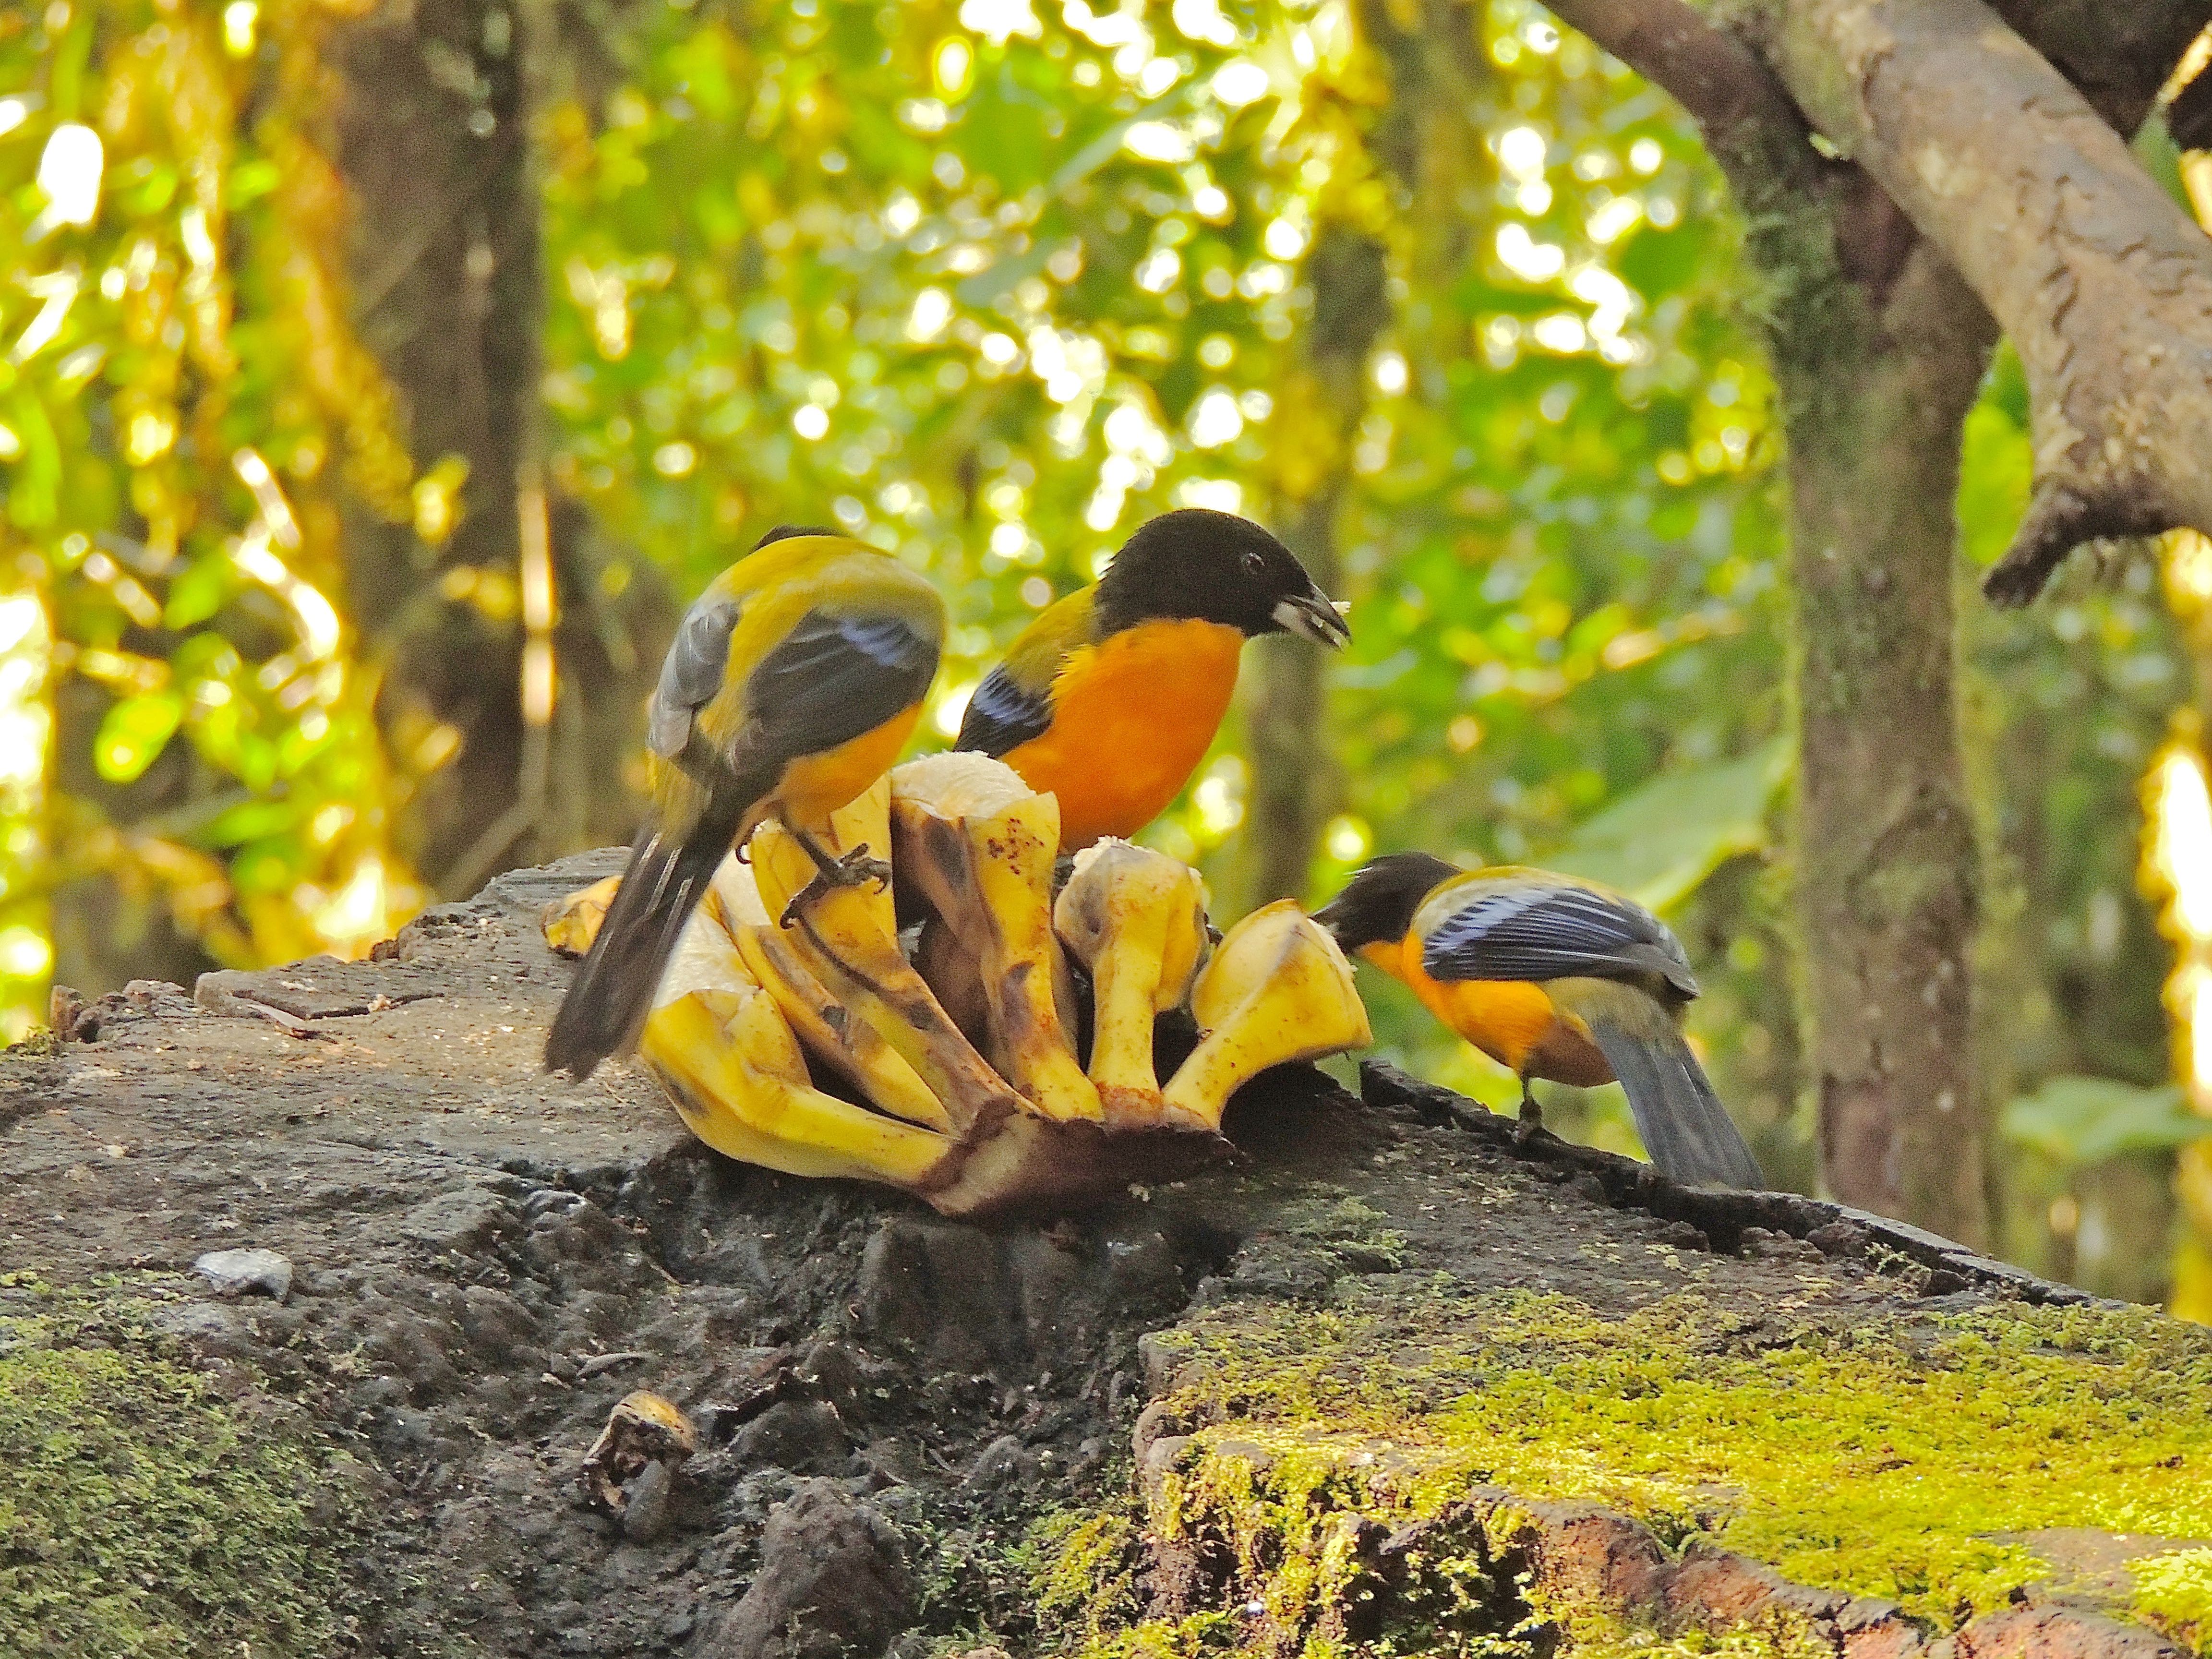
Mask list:
[[[953,748],[995,754],[1060,796],[1060,845],[1133,836],[1206,759],[1243,641],[1352,630],[1305,566],[1234,513],[1144,524],[1095,586],[1046,606],[969,699]]]

